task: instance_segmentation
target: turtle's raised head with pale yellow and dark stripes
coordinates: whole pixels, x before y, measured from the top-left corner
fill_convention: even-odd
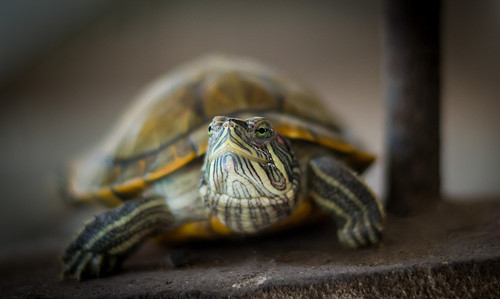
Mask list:
[[[290,143],[262,117],[217,116],[200,188],[215,217],[239,232],[257,232],[293,211],[300,169]]]

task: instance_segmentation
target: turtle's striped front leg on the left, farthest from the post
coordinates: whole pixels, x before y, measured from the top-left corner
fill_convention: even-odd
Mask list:
[[[126,201],[85,225],[64,252],[62,278],[81,280],[116,270],[146,238],[171,223],[163,198]]]

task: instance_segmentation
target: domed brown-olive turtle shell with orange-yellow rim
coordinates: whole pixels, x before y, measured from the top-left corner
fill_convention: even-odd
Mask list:
[[[205,153],[218,115],[264,116],[282,135],[331,148],[358,171],[374,160],[311,91],[258,62],[211,56],[147,87],[104,143],[74,165],[71,195],[110,205],[138,196]]]

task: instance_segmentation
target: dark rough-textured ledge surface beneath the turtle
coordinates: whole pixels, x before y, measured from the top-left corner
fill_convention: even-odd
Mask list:
[[[117,275],[84,282],[59,281],[64,244],[37,242],[3,254],[0,291],[8,297],[500,296],[500,202],[439,204],[418,216],[389,217],[386,226],[380,248],[359,251],[341,248],[328,222],[176,248],[150,243]]]

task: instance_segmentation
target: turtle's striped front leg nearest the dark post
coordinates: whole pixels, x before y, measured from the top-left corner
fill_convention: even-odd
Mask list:
[[[322,156],[310,161],[308,178],[314,202],[335,218],[342,245],[359,248],[380,242],[382,204],[354,171]]]

